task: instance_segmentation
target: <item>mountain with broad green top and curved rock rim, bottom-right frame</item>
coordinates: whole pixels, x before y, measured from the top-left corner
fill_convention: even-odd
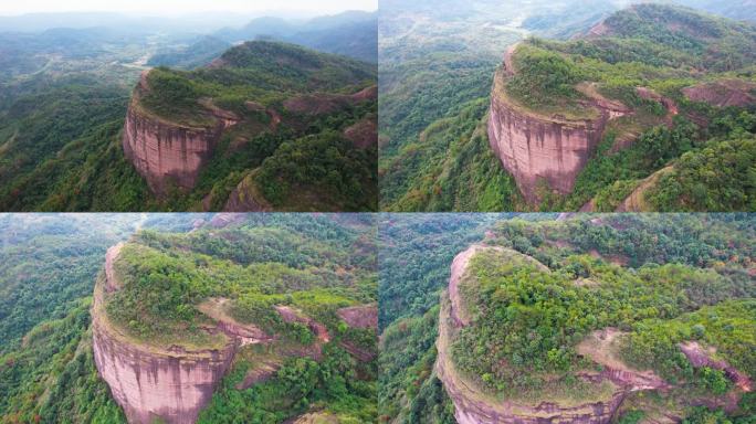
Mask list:
[[[582,231],[637,225],[620,216],[586,220]],[[628,269],[596,250],[578,255],[585,241],[568,234],[581,225],[502,225],[452,262],[435,372],[456,421],[608,423],[632,410],[652,418],[654,398],[664,400],[666,420],[701,404],[747,414],[753,277],[664,261]],[[537,248],[517,241],[527,255],[497,245],[523,234],[546,239]],[[753,255],[753,243],[741,247]],[[748,261],[731,266],[753,272]]]

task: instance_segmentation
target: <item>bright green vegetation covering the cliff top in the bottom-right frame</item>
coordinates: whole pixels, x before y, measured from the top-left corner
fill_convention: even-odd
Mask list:
[[[600,399],[602,386],[575,378],[597,367],[577,346],[616,328],[620,358],[676,384],[666,396],[673,410],[722,396],[734,388],[729,378],[693,368],[678,344],[715,347],[717,359],[753,379],[754,230],[748,215],[503,223],[490,240],[514,252],[473,257],[461,285],[472,325],[451,347],[454,363],[491,392],[525,402]]]

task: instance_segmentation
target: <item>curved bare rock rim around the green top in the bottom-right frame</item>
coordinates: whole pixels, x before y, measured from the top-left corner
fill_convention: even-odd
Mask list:
[[[466,272],[470,259],[483,250],[498,250],[484,245],[473,245],[460,253],[453,261],[449,292],[441,298],[439,317],[439,338],[437,340],[438,358],[435,372],[443,382],[444,389],[454,404],[454,417],[460,424],[543,424],[543,423],[609,423],[622,404],[622,401],[633,390],[657,389],[664,386],[664,382],[648,372],[637,372],[621,367],[606,367],[602,372],[596,372],[579,378],[591,382],[609,382],[615,388],[608,399],[585,404],[563,406],[553,402],[538,404],[516,403],[501,400],[481,390],[474,382],[468,381],[455,369],[450,357],[450,346],[460,329],[470,324],[470,317],[460,300],[459,284]],[[611,333],[616,336],[616,333]],[[598,338],[602,342],[611,342],[613,338]],[[611,364],[605,361],[606,364]]]

